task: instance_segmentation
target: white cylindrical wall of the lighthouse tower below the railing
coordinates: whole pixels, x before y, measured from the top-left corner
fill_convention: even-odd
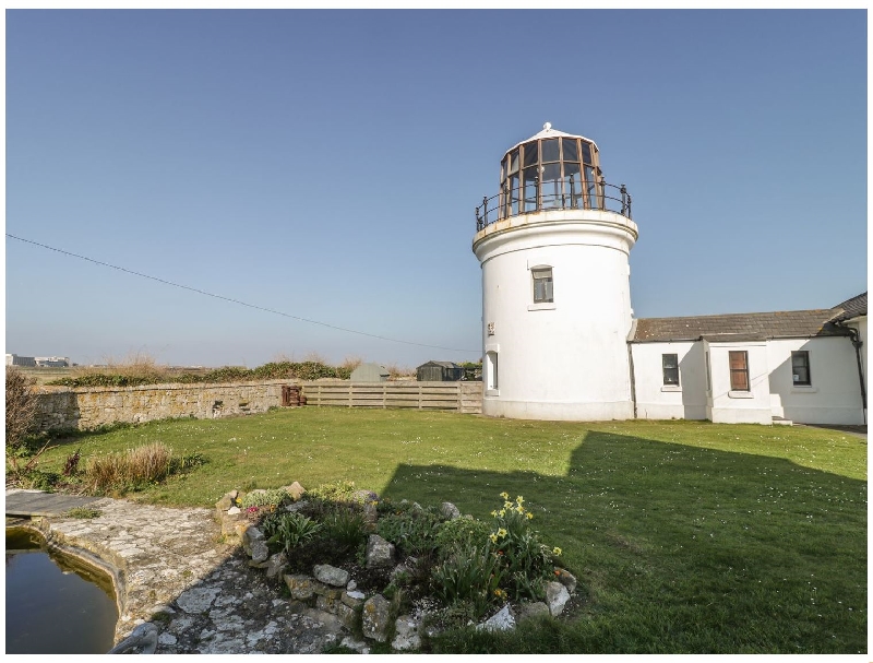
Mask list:
[[[635,237],[631,221],[590,210],[511,217],[477,234],[482,346],[498,355],[498,389],[487,388],[486,376],[483,414],[633,417],[626,338]],[[530,268],[538,265],[552,268],[553,304],[534,304]]]

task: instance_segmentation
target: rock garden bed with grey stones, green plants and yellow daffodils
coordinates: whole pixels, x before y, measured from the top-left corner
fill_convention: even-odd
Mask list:
[[[512,629],[558,617],[576,579],[542,541],[524,497],[495,495],[490,521],[443,502],[392,501],[343,482],[231,490],[217,504],[228,542],[292,601],[335,615],[338,651],[418,651],[444,629]]]

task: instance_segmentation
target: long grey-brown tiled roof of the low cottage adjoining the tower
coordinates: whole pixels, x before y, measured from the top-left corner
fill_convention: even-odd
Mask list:
[[[696,341],[702,336],[709,341],[750,341],[848,335],[830,322],[835,312],[835,309],[821,308],[772,313],[642,318],[636,321],[631,342]]]

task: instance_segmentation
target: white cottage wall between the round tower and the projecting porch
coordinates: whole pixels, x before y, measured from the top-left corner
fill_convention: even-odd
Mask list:
[[[630,347],[637,418],[706,418],[706,368],[701,341],[632,343]],[[665,354],[679,355],[679,387],[663,383]]]

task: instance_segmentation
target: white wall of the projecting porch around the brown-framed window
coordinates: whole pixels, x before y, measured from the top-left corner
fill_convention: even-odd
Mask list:
[[[707,342],[704,352],[709,352],[709,371],[713,390],[707,394],[707,414],[716,424],[765,424],[773,425],[770,409],[769,365],[767,343]],[[749,391],[732,391],[730,388],[730,351],[749,353]]]

